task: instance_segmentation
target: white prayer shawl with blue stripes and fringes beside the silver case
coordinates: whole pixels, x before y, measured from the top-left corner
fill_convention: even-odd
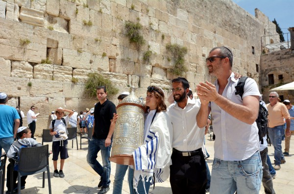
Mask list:
[[[145,129],[146,130],[146,129]],[[133,152],[134,188],[137,191],[140,175],[143,184],[153,176],[155,182],[163,182],[170,175],[172,165],[172,122],[165,112],[157,112],[144,140],[144,145]],[[153,179],[150,180],[154,184]],[[144,184],[145,185],[145,184]]]

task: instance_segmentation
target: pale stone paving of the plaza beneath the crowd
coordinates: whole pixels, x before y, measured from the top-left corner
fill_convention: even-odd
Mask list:
[[[293,138],[294,139],[294,138]],[[38,142],[42,142],[41,138],[37,138]],[[80,139],[78,137],[78,143]],[[213,141],[210,140],[209,135],[206,135],[206,149],[211,155],[207,159],[208,166],[211,169],[213,162]],[[284,148],[284,141],[282,142]],[[82,150],[76,150],[76,143],[74,142],[73,149],[71,148],[72,142],[69,143],[69,155],[70,157],[65,162],[64,167],[64,178],[53,177],[53,163],[52,155],[50,156],[50,175],[51,175],[51,188],[52,194],[97,194],[99,189],[97,188],[99,182],[99,175],[92,170],[92,168],[87,164],[86,155],[88,150],[88,143],[86,139],[82,139]],[[78,144],[80,148],[80,145]],[[49,150],[51,144],[49,143]],[[294,140],[291,141],[291,148],[294,149]],[[293,150],[292,149],[292,150]],[[273,147],[269,147],[270,159],[273,162]],[[286,163],[281,165],[281,170],[277,171],[277,176],[273,180],[274,189],[276,194],[294,194],[294,152],[290,152],[290,156],[285,157]],[[98,161],[102,163],[100,154],[98,154]],[[112,183],[115,174],[115,163],[111,163],[111,184],[110,191],[108,194],[112,194]],[[123,181],[123,194],[128,194],[128,183],[127,174]],[[5,183],[6,184],[6,183]],[[6,191],[6,188],[5,188]],[[4,192],[5,193],[5,192]],[[22,194],[48,194],[48,181],[46,179],[45,188],[42,188],[42,173],[30,175],[26,179],[25,190],[22,190]],[[170,182],[166,181],[161,184],[156,183],[156,187],[153,190],[149,190],[150,194],[172,194]],[[264,194],[263,187],[260,194]]]

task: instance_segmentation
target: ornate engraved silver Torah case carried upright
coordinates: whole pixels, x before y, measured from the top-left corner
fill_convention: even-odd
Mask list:
[[[145,106],[135,88],[117,106],[118,120],[113,133],[110,161],[134,165],[132,152],[144,144]]]

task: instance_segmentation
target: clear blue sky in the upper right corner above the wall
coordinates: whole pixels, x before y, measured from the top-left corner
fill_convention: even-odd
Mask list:
[[[294,27],[294,0],[233,0],[237,5],[255,16],[254,9],[258,8],[270,21],[275,18],[283,33],[288,33],[289,27]],[[288,35],[290,39],[290,35]],[[287,41],[287,37],[285,37]]]

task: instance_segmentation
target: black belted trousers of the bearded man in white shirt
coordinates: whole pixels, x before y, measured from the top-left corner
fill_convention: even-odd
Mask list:
[[[207,176],[202,151],[194,156],[182,156],[172,151],[170,168],[172,194],[205,194]]]

